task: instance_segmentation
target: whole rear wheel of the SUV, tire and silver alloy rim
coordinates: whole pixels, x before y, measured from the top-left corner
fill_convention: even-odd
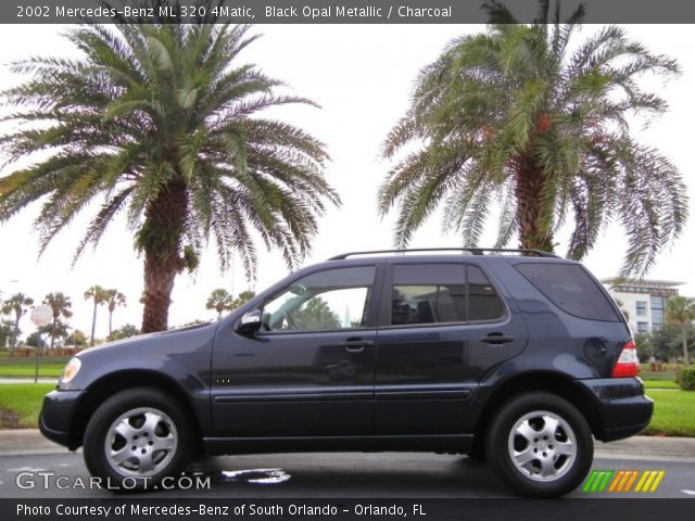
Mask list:
[[[548,393],[528,393],[498,409],[488,431],[485,456],[497,478],[515,492],[559,497],[586,476],[594,442],[572,404]]]

